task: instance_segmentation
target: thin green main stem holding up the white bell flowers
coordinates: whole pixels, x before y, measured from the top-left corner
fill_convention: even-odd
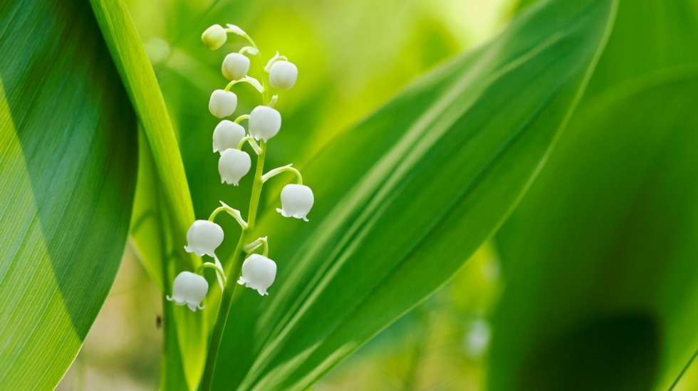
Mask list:
[[[250,44],[257,48],[252,38],[246,36]],[[257,48],[259,50],[259,48]],[[261,53],[255,56],[259,68],[262,71],[262,83],[264,85],[264,92],[262,93],[262,104],[266,105],[269,103],[269,85],[267,85],[267,75],[264,72],[264,64],[261,63]],[[221,305],[218,309],[218,316],[216,318],[216,324],[213,327],[211,333],[211,341],[209,343],[209,351],[206,355],[206,364],[204,365],[204,374],[202,375],[202,380],[199,385],[200,391],[210,391],[213,385],[213,374],[216,369],[216,360],[218,358],[218,351],[221,346],[221,340],[223,338],[223,331],[225,330],[225,325],[228,321],[230,314],[231,304],[233,301],[233,293],[237,286],[237,280],[240,278],[240,273],[242,269],[242,261],[244,260],[244,251],[242,251],[243,246],[249,243],[249,236],[251,231],[254,230],[254,224],[257,217],[257,209],[259,207],[259,198],[261,197],[261,189],[264,182],[262,181],[262,175],[264,174],[264,158],[266,157],[266,142],[259,142],[259,147],[261,152],[257,155],[257,166],[254,171],[254,182],[252,184],[252,194],[249,202],[249,212],[247,214],[247,226],[240,233],[240,239],[235,246],[235,251],[231,256],[231,267],[228,270],[228,278],[225,284],[225,289],[223,290],[223,295],[221,297]]]

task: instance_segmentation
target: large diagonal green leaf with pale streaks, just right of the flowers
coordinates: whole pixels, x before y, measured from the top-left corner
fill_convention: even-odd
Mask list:
[[[323,148],[303,170],[311,222],[266,205],[277,282],[236,292],[215,388],[308,387],[447,281],[543,164],[614,10],[533,6]]]

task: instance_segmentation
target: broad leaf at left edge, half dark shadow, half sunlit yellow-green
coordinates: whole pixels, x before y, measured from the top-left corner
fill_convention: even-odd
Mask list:
[[[0,389],[51,390],[125,246],[135,115],[87,4],[0,3]]]

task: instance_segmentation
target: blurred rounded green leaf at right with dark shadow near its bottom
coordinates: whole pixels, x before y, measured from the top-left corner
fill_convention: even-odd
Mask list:
[[[665,390],[690,358],[697,99],[697,72],[655,75],[573,117],[499,234],[492,390]]]

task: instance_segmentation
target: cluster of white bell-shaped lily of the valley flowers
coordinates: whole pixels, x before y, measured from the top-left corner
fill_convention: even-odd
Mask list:
[[[236,282],[247,288],[259,292],[261,296],[269,294],[267,290],[276,279],[276,263],[269,259],[269,241],[266,236],[250,240],[248,234],[254,225],[254,220],[259,204],[261,186],[271,177],[282,172],[293,172],[296,175],[296,183],[286,184],[281,190],[281,208],[276,211],[283,217],[293,217],[308,221],[307,215],[313,207],[313,191],[303,184],[301,172],[286,165],[264,172],[264,156],[267,143],[281,130],[281,113],[274,108],[278,95],[271,95],[270,90],[288,90],[296,84],[298,68],[288,61],[286,56],[281,56],[278,51],[264,66],[261,61],[259,48],[238,26],[228,24],[227,28],[214,25],[206,29],[202,34],[202,41],[211,50],[217,50],[226,43],[228,33],[241,36],[249,42],[239,51],[225,56],[221,65],[221,73],[224,78],[230,80],[224,89],[214,90],[209,99],[209,112],[221,121],[213,131],[213,152],[219,154],[218,171],[221,183],[238,186],[241,179],[249,174],[252,167],[252,159],[248,152],[243,150],[249,145],[256,154],[257,170],[253,181],[252,195],[249,205],[248,220],[243,219],[239,210],[233,209],[221,202],[221,207],[215,209],[207,220],[194,221],[187,231],[187,246],[184,250],[197,256],[209,256],[214,262],[205,262],[199,267],[197,273],[182,271],[179,273],[172,286],[172,296],[167,300],[174,301],[179,306],[185,304],[192,311],[204,308],[202,300],[207,294],[208,283],[201,275],[202,269],[211,268],[216,271],[217,280],[221,289],[232,289],[227,281],[229,277],[236,278]],[[259,71],[263,71],[262,83],[249,75],[251,59],[259,64]],[[239,115],[235,120],[224,118],[233,115],[237,109],[237,95],[231,91],[234,85],[246,83],[251,85],[261,94],[261,105],[256,106],[249,114]],[[247,130],[241,122],[247,121]],[[214,222],[220,212],[226,212],[238,222],[241,227],[241,235],[236,251],[231,257],[230,265],[224,266],[216,256],[216,249],[224,240],[224,231]],[[261,249],[261,254],[255,251]],[[239,265],[236,259],[245,257]]]

